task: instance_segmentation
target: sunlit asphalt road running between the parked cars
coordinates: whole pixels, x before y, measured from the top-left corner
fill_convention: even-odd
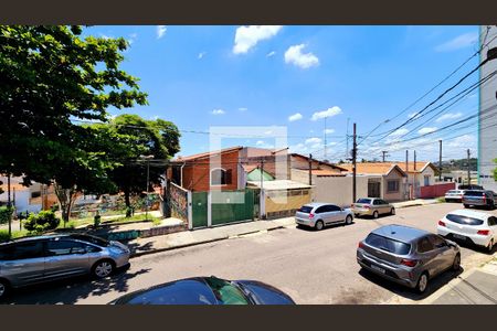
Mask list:
[[[131,267],[114,277],[86,277],[14,291],[6,303],[107,303],[133,290],[194,276],[256,279],[273,285],[297,303],[385,303],[422,300],[452,278],[445,273],[431,282],[424,296],[360,271],[356,248],[360,239],[384,224],[405,224],[435,232],[437,221],[459,204],[434,204],[398,210],[394,216],[356,218],[349,226],[321,232],[297,227],[180,248],[131,259]],[[497,215],[497,211],[490,212]],[[271,222],[271,221],[268,221]],[[462,247],[462,267],[468,269],[489,255]]]

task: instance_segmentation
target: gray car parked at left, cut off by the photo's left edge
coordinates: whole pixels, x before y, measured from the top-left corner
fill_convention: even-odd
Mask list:
[[[129,263],[129,248],[88,235],[36,236],[0,244],[0,298],[8,289],[91,274],[109,276]]]

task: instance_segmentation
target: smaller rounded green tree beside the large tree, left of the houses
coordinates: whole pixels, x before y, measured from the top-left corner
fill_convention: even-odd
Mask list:
[[[119,162],[108,171],[109,179],[125,193],[126,206],[130,196],[147,190],[147,166],[150,186],[159,184],[165,175],[165,160],[176,154],[180,134],[176,125],[162,119],[146,120],[138,115],[120,115],[109,124],[93,125],[92,128],[106,137],[106,157]],[[140,160],[140,156],[154,156],[155,160]],[[148,164],[147,164],[148,163]]]

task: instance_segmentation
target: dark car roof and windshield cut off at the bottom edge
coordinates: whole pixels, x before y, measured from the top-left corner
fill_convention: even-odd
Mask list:
[[[125,295],[109,305],[295,305],[283,291],[256,280],[194,277]]]

